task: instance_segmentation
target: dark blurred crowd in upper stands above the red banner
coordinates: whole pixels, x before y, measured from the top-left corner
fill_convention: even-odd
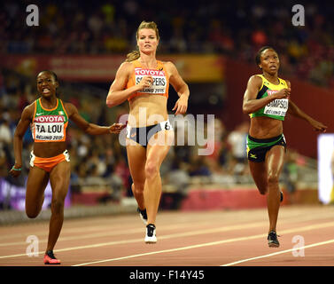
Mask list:
[[[305,26],[294,27],[288,0],[35,1],[39,26],[28,27],[27,1],[8,0],[0,12],[0,52],[124,54],[136,48],[139,23],[154,20],[160,53],[218,52],[254,62],[260,46],[272,45],[284,75],[333,87],[334,5],[303,3]]]

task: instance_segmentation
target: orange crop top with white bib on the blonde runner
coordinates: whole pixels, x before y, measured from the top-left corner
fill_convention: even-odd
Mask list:
[[[168,99],[169,77],[162,61],[157,61],[158,66],[156,69],[143,68],[138,59],[131,63],[135,66],[135,71],[128,80],[127,89],[140,83],[144,76],[151,75],[153,83],[150,88],[145,88],[142,91],[137,91],[128,98],[131,100],[137,96],[143,94],[161,95]]]

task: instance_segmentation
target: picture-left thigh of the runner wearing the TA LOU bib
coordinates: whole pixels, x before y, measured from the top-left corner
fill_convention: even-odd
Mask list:
[[[40,204],[46,185],[49,182],[49,173],[37,167],[32,167],[27,175],[26,207],[31,208]]]

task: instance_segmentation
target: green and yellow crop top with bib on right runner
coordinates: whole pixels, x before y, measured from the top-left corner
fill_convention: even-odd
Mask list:
[[[266,98],[275,94],[284,88],[288,88],[285,80],[278,78],[279,84],[270,83],[263,75],[258,75],[262,78],[262,85],[256,99]],[[289,107],[289,99],[274,99],[267,106],[263,106],[255,113],[250,114],[251,117],[267,116],[280,121],[284,121],[284,117]]]

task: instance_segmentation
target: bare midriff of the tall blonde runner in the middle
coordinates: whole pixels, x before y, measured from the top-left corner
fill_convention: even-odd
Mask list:
[[[161,95],[143,94],[129,102],[128,125],[144,127],[167,121],[167,98]]]

